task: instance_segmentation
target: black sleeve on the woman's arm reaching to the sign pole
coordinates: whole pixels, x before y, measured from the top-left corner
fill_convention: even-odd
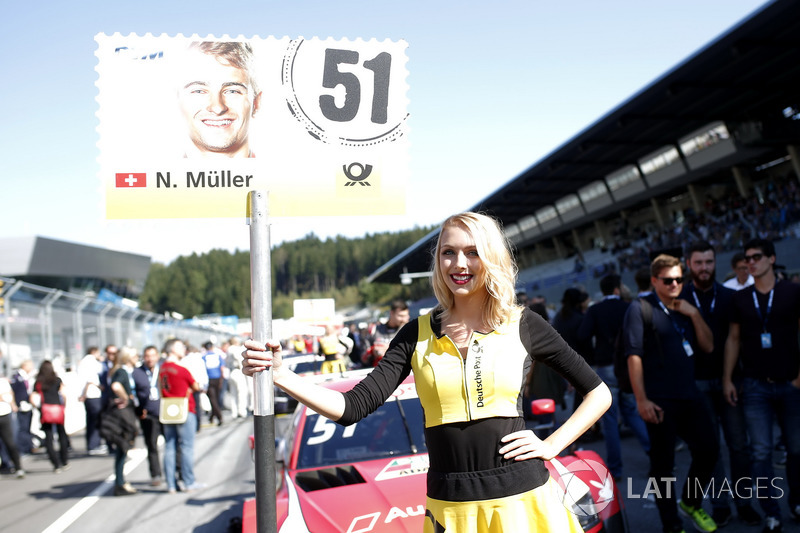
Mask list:
[[[344,393],[344,414],[338,420],[339,424],[349,426],[373,412],[408,377],[418,331],[416,319],[403,326],[373,371]]]

